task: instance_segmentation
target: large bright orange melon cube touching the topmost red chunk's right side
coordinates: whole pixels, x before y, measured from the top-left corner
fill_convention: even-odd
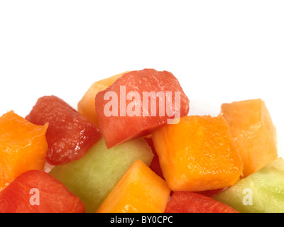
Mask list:
[[[222,116],[185,116],[152,135],[160,167],[173,191],[229,187],[243,170]]]

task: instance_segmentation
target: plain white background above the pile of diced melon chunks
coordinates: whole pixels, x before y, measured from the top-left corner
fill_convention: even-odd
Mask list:
[[[77,107],[126,70],[168,70],[190,114],[261,98],[284,156],[284,1],[1,1],[0,115],[43,95]]]

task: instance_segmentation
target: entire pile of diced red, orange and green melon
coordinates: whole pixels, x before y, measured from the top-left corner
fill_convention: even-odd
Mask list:
[[[284,212],[284,160],[264,101],[190,115],[170,72],[94,82],[0,117],[0,213]]]

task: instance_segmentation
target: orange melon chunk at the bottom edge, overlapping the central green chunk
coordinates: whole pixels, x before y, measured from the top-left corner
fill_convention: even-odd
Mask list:
[[[165,181],[137,160],[119,179],[97,213],[162,213],[169,195]]]

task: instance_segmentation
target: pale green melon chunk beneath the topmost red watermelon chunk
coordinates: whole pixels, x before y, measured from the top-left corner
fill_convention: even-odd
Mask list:
[[[143,138],[107,149],[99,141],[80,160],[58,165],[51,172],[84,202],[87,212],[95,212],[119,178],[136,160],[151,163],[153,153]]]

